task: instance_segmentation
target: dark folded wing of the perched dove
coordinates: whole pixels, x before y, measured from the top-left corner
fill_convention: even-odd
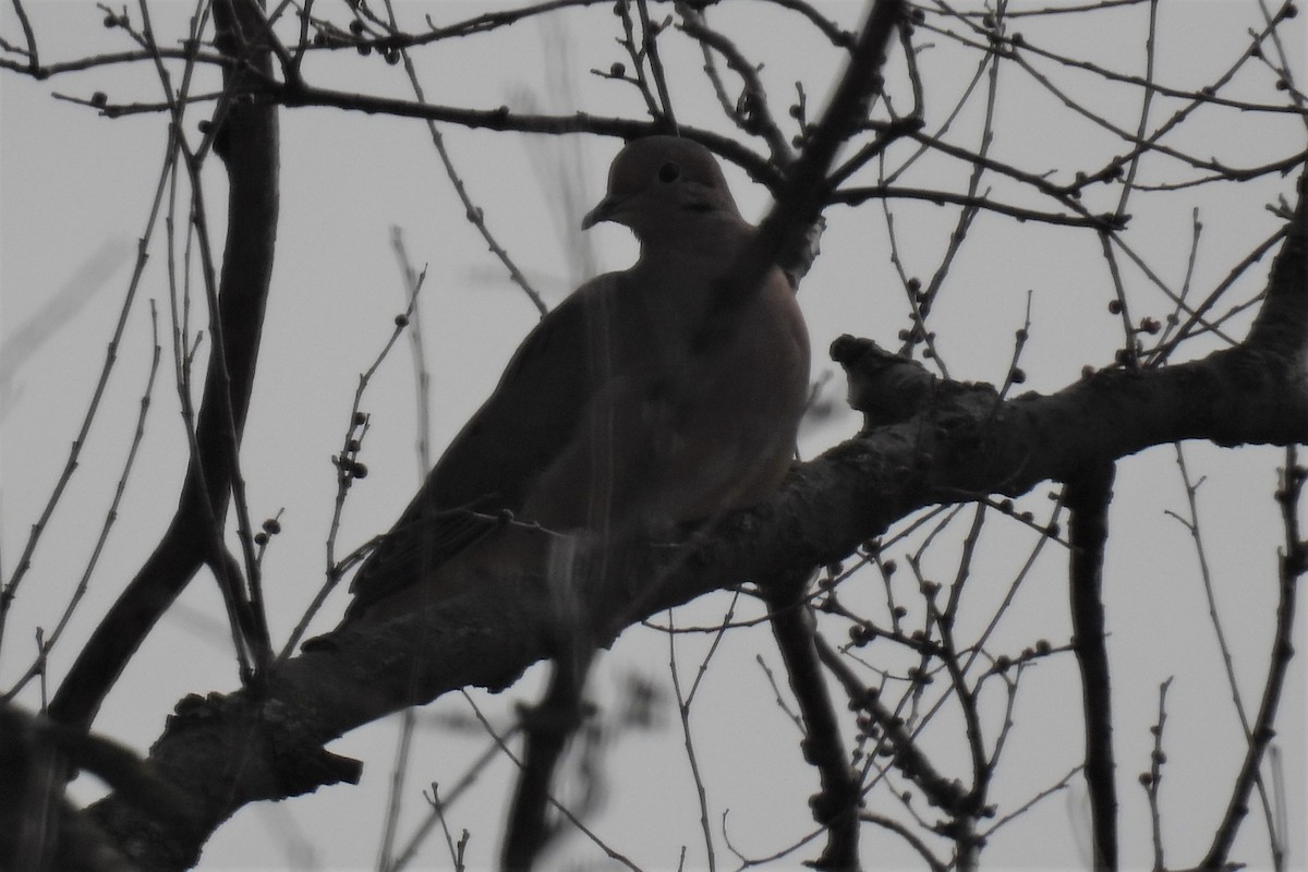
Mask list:
[[[347,616],[416,583],[518,512],[532,482],[572,442],[603,382],[607,302],[624,273],[578,288],[527,335],[500,383],[463,426],[351,583]]]

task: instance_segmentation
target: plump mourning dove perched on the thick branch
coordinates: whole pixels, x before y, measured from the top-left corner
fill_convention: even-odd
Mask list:
[[[628,226],[640,259],[587,281],[531,331],[360,567],[347,624],[497,575],[545,575],[559,536],[653,536],[781,484],[807,399],[808,335],[776,268],[739,305],[714,306],[753,230],[717,161],[685,139],[629,143],[582,229],[602,221]]]

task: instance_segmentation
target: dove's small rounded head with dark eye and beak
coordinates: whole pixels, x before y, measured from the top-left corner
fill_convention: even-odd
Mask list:
[[[613,158],[608,193],[581,226],[613,221],[630,227],[642,243],[658,243],[693,233],[704,217],[740,221],[722,167],[698,143],[647,136],[628,143]]]

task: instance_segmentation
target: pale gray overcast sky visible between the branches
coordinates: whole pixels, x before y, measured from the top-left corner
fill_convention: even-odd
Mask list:
[[[714,7],[712,21],[726,33],[739,33],[742,48],[765,59],[764,80],[774,109],[785,111],[793,82],[803,78],[811,112],[835,72],[832,52],[791,14],[761,4]],[[484,4],[402,4],[402,16],[417,22],[420,13],[453,21],[484,10]],[[853,27],[861,7],[824,7]],[[744,12],[742,12],[744,9]],[[34,4],[29,12],[50,60],[123,47],[123,37],[106,31],[103,17],[90,4]],[[188,5],[165,3],[152,9],[156,31],[178,33]],[[336,14],[332,9],[331,14]],[[734,16],[756,16],[746,30],[735,30]],[[1079,17],[1078,17],[1079,18]],[[1177,88],[1197,88],[1216,77],[1241,51],[1244,31],[1257,20],[1254,3],[1198,0],[1164,3],[1156,78]],[[574,97],[545,93],[551,78],[543,46],[559,39],[532,24],[466,41],[441,43],[438,51],[416,55],[432,102],[487,107],[521,99],[526,89],[547,109],[583,106],[595,114],[638,114],[629,88],[602,82],[587,73],[619,60],[611,42],[616,20],[607,7],[570,14],[566,59],[577,82]],[[1100,14],[1086,21],[1054,16],[1045,24],[1023,22],[1019,29],[1041,44],[1096,60],[1114,69],[1141,73],[1144,9]],[[20,33],[12,8],[0,13],[0,33],[13,41]],[[1303,60],[1303,30],[1290,54]],[[929,42],[925,37],[923,42]],[[684,41],[683,41],[684,42]],[[1291,41],[1294,43],[1294,41]],[[675,71],[672,86],[683,122],[725,131],[712,92],[698,73],[697,51],[668,46],[666,63]],[[974,59],[937,41],[923,52],[927,68],[931,126],[954,105],[972,73]],[[1105,89],[1088,76],[1050,68],[1070,93],[1100,109],[1122,127],[1134,128],[1139,105],[1133,88]],[[1296,69],[1303,73],[1303,68]],[[399,68],[377,58],[315,58],[306,67],[315,82],[368,93],[405,94]],[[1001,73],[997,107],[997,159],[1031,171],[1097,166],[1124,150],[1121,143],[1088,122],[1070,116],[1058,102],[1011,65]],[[1099,89],[1097,92],[1095,89]],[[0,567],[12,573],[30,524],[67,458],[90,390],[95,383],[111,328],[122,307],[131,256],[144,231],[153,186],[165,145],[164,124],[145,115],[120,120],[98,118],[90,109],[54,101],[51,92],[86,98],[106,92],[111,101],[157,98],[157,84],[145,67],[106,68],[89,75],[30,82],[0,75],[0,337],[5,341],[4,418],[0,422]],[[1270,101],[1275,92],[1266,73],[1241,73],[1232,93]],[[1159,101],[1155,119],[1176,105]],[[974,129],[982,103],[959,119]],[[205,115],[196,107],[190,129]],[[428,267],[422,292],[428,365],[433,373],[433,442],[442,446],[493,387],[500,370],[536,315],[526,297],[502,278],[504,271],[463,217],[432,149],[425,127],[416,122],[370,118],[334,110],[294,110],[281,115],[283,210],[275,286],[269,302],[260,375],[254,395],[242,464],[249,482],[251,514],[263,518],[285,509],[284,532],[264,563],[271,621],[276,638],[285,638],[303,605],[317,591],[324,566],[323,541],[335,490],[330,456],[337,451],[347,424],[357,375],[366,369],[390,333],[392,316],[403,309],[399,272],[390,252],[388,227],[403,229],[419,265]],[[598,199],[608,161],[617,149],[599,139],[553,140],[544,136],[494,135],[442,128],[450,152],[476,203],[504,244],[548,301],[557,302],[576,282],[578,255],[570,248],[581,233],[579,214],[560,216],[562,184],[582,186],[578,203]],[[1298,137],[1298,139],[1295,139]],[[1235,112],[1201,111],[1173,143],[1199,154],[1214,154],[1248,166],[1283,157],[1301,148],[1301,124],[1283,119],[1247,119]],[[974,140],[965,140],[974,144]],[[579,148],[585,178],[540,178],[540,166]],[[903,154],[908,152],[904,150]],[[900,154],[900,159],[903,157]],[[906,184],[957,190],[968,167],[947,161],[923,162]],[[759,216],[768,199],[743,174],[729,171],[732,188],[748,216]],[[1186,178],[1175,162],[1150,157],[1142,180]],[[1270,234],[1275,218],[1264,208],[1292,180],[1261,179],[1250,186],[1188,190],[1159,197],[1137,196],[1127,239],[1150,267],[1173,286],[1181,284],[1189,254],[1193,208],[1201,209],[1203,242],[1194,265],[1194,294],[1206,294],[1239,259]],[[1024,197],[1011,183],[986,178],[995,199]],[[222,183],[211,163],[205,197],[221,241]],[[1101,193],[1090,192],[1091,201]],[[1116,205],[1104,197],[1096,210]],[[1048,204],[1044,204],[1048,208]],[[909,275],[929,276],[947,244],[956,212],[925,203],[893,203],[899,254]],[[908,323],[903,289],[889,264],[887,218],[878,204],[861,209],[832,208],[823,252],[804,281],[800,301],[815,349],[815,377],[832,365],[825,348],[840,333],[870,336],[887,346]],[[623,268],[634,258],[627,231],[602,226],[590,231],[594,255],[604,269]],[[0,685],[8,688],[26,668],[33,628],[50,628],[63,609],[88,560],[95,529],[112,494],[129,444],[149,361],[148,301],[160,306],[164,369],[154,390],[141,460],[120,509],[90,592],[56,648],[52,680],[67,669],[80,639],[112,601],[116,591],[149,553],[170,516],[184,467],[184,435],[177,412],[167,343],[167,285],[164,275],[162,227],[152,241],[149,271],[128,315],[118,369],[103,400],[103,412],[82,454],[81,467],[37,553],[37,566],[18,597],[0,652]],[[573,252],[573,254],[569,254]],[[94,278],[78,269],[92,263]],[[1260,264],[1244,281],[1241,298],[1254,295],[1266,275]],[[81,277],[78,277],[81,276]],[[41,335],[39,346],[26,335],[21,361],[12,350],[20,324],[34,318],[78,277],[84,289],[75,311],[60,310],[58,329]],[[1169,307],[1156,289],[1129,269],[1133,307],[1164,315]],[[1117,319],[1105,306],[1112,286],[1093,234],[982,216],[955,263],[933,319],[942,354],[955,378],[999,382],[1012,353],[1014,331],[1023,324],[1031,292],[1031,341],[1023,366],[1031,390],[1057,390],[1074,380],[1083,365],[1104,366],[1121,343]],[[198,322],[201,323],[199,315]],[[1241,335],[1247,320],[1232,331]],[[1211,348],[1203,341],[1192,354]],[[415,416],[407,349],[392,356],[371,387],[365,408],[373,430],[365,446],[368,480],[351,497],[341,544],[352,548],[381,532],[408,501],[416,485],[413,461]],[[838,390],[838,388],[837,388]],[[838,394],[837,394],[838,399]],[[807,431],[806,456],[852,435],[853,416]],[[1274,609],[1275,548],[1279,522],[1271,492],[1277,450],[1219,450],[1186,446],[1192,476],[1205,477],[1201,519],[1209,546],[1224,629],[1236,651],[1236,671],[1245,705],[1254,709],[1266,668],[1267,626]],[[1109,647],[1117,681],[1117,756],[1121,771],[1124,851],[1131,864],[1150,862],[1148,818],[1135,773],[1148,765],[1152,737],[1148,726],[1158,706],[1158,685],[1175,676],[1168,696],[1168,757],[1164,809],[1169,859],[1196,862],[1194,845],[1224,807],[1226,786],[1239,763],[1231,753],[1239,723],[1231,710],[1207,617],[1207,604],[1196,571],[1188,531],[1165,512],[1184,510],[1184,490],[1176,472],[1176,452],[1159,447],[1126,459],[1118,472],[1109,546]],[[1049,488],[1037,488],[1022,502],[1044,516],[1052,503]],[[971,514],[955,522],[952,540],[965,532]],[[985,540],[973,573],[972,614],[984,624],[1025,560],[1035,537],[1001,519]],[[905,546],[900,546],[904,549]],[[948,578],[956,549],[934,552],[927,571]],[[906,570],[905,570],[906,574]],[[908,578],[900,579],[908,582]],[[874,608],[879,582],[867,579],[846,597]],[[865,601],[866,600],[866,601]],[[318,628],[335,624],[345,597],[330,600]],[[680,611],[678,625],[713,624],[727,605],[709,597]],[[757,614],[743,607],[746,617]],[[229,690],[235,676],[222,609],[212,582],[201,577],[149,637],[122,682],[109,698],[97,729],[140,752],[162,729],[171,705],[190,692]],[[742,617],[742,614],[738,614]],[[1300,628],[1303,621],[1300,620]],[[1024,583],[991,647],[1015,654],[1037,638],[1056,645],[1069,633],[1065,556],[1046,548]],[[1301,631],[1300,631],[1301,638]],[[693,676],[709,645],[704,637],[679,637],[676,658]],[[1301,646],[1300,646],[1301,650]],[[798,735],[777,707],[761,656],[780,675],[766,628],[732,631],[717,654],[700,702],[692,713],[697,753],[705,767],[715,848],[721,863],[734,865],[722,838],[738,850],[763,856],[811,829],[807,796],[816,788],[814,773],[798,753]],[[595,676],[595,692],[612,699],[630,675],[668,688],[667,638],[636,628],[615,645]],[[1282,703],[1279,732],[1290,787],[1290,820],[1304,820],[1304,672],[1301,659]],[[475,696],[500,726],[509,722],[511,703],[531,698],[536,672],[501,697]],[[670,690],[668,690],[670,693]],[[29,693],[25,703],[38,698]],[[1052,784],[1080,754],[1079,690],[1070,656],[1054,659],[1023,679],[1008,760],[1001,766],[997,797],[1008,803],[1001,813]],[[993,714],[993,713],[991,713]],[[446,698],[424,710],[424,718],[467,718],[467,703]],[[595,830],[646,868],[675,868],[687,845],[688,868],[704,863],[698,811],[684,757],[675,710],[663,711],[664,727],[624,737],[608,757],[610,804],[595,820]],[[947,754],[957,746],[956,719],[943,715],[927,739]],[[357,788],[336,787],[277,807],[242,811],[209,843],[203,869],[357,868],[371,863],[381,830],[383,796],[392,754],[395,724],[385,723],[344,737],[334,750],[368,762]],[[404,821],[417,820],[416,791],[430,782],[453,784],[466,761],[488,739],[424,729],[409,767],[415,791]],[[963,770],[965,771],[965,770]],[[500,760],[468,799],[451,812],[454,828],[472,830],[475,864],[493,856],[501,828],[501,808],[511,770]],[[78,796],[95,792],[80,779]],[[1074,787],[1046,800],[1023,821],[1001,831],[985,855],[993,867],[1076,867],[1083,852],[1075,830],[1086,816],[1083,791]],[[927,814],[930,818],[930,814]],[[1247,842],[1264,843],[1250,821]],[[404,829],[402,828],[402,831]],[[1303,863],[1301,829],[1292,835],[1292,858]],[[865,848],[887,867],[912,864],[912,855],[889,835],[869,831]],[[1190,848],[1188,851],[1186,848]],[[581,841],[569,842],[568,856],[593,863],[598,856]],[[300,854],[305,851],[307,854]],[[437,839],[421,856],[424,868],[445,868]],[[812,851],[798,856],[810,856]],[[309,856],[311,855],[311,860]],[[1264,858],[1262,852],[1254,855]],[[560,862],[561,864],[561,862]],[[793,864],[793,863],[791,863]]]

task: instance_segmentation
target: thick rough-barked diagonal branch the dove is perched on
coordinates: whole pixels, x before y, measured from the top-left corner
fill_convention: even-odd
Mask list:
[[[1301,230],[1292,237],[1301,239]],[[1305,278],[1286,264],[1292,258],[1283,254],[1269,299],[1284,295],[1303,307]],[[874,349],[854,339],[837,340],[833,349],[850,370],[862,408],[875,399],[861,370]],[[731,515],[712,536],[693,537],[671,556],[666,546],[653,549],[649,565],[670,569],[633,573],[657,579],[641,590],[607,591],[610,603],[598,611],[608,624],[599,638],[616,638],[641,617],[743,578],[835,562],[922,506],[1071,480],[1087,459],[1122,458],[1177,439],[1308,441],[1300,362],[1249,345],[1158,371],[1103,371],[1052,396],[1001,401],[988,386],[952,382],[913,390],[925,405],[913,417],[797,467],[777,497]],[[170,722],[150,758],[201,797],[205,818],[196,831],[165,831],[116,797],[99,804],[95,816],[119,843],[144,845],[131,834],[146,828],[143,850],[174,858],[156,858],[161,868],[181,868],[205,830],[241,805],[351,779],[353,767],[322,752],[322,743],[456,688],[511,684],[547,656],[542,616],[548,613],[544,586],[518,579],[472,591],[438,612],[340,633],[279,669],[262,701],[246,692],[192,701]]]

